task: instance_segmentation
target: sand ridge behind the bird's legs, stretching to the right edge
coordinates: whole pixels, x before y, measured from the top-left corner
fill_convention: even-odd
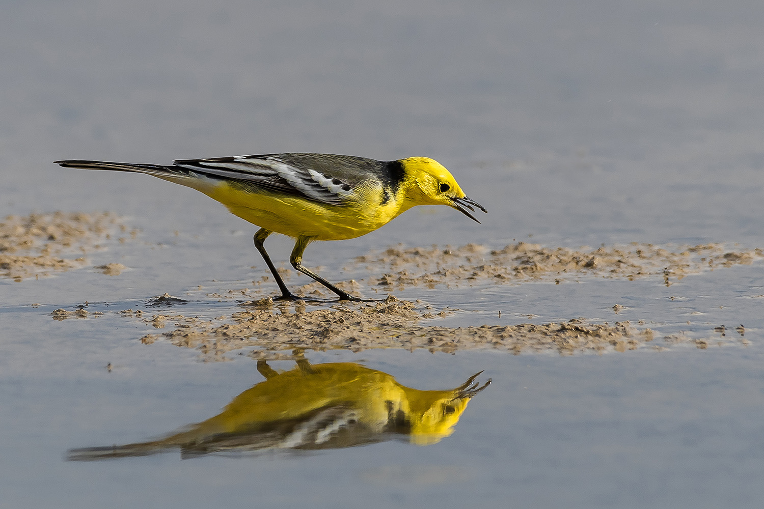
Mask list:
[[[521,282],[554,279],[560,283],[584,277],[636,279],[650,275],[662,277],[665,285],[717,267],[753,263],[764,258],[764,250],[729,251],[720,243],[696,246],[654,246],[630,243],[600,246],[596,249],[545,247],[519,242],[501,249],[467,244],[458,248],[403,246],[358,256],[355,263],[389,266],[377,285],[386,290],[407,286],[446,285],[456,282]]]

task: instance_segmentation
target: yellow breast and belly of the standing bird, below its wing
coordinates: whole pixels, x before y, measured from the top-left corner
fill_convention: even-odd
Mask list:
[[[228,182],[199,189],[232,214],[289,237],[345,240],[361,237],[387,224],[407,207],[381,186],[361,186],[346,205],[329,205],[276,192],[252,192]]]

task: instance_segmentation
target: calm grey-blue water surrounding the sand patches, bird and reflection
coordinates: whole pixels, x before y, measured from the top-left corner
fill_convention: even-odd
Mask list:
[[[659,335],[746,340],[604,356],[371,351],[416,388],[494,384],[455,433],[319,453],[177,453],[74,463],[67,449],[157,437],[261,380],[254,361],[147,346],[116,313],[168,292],[241,288],[264,266],[254,228],[190,189],[54,159],[316,151],[426,155],[490,210],[420,208],[310,246],[338,280],[393,243],[502,247],[764,242],[761,2],[2,2],[0,215],[109,210],[141,229],[91,269],[0,281],[0,507],[760,507],[761,263],[659,279],[412,288],[443,324],[643,320]],[[290,241],[269,241],[285,259]],[[303,279],[292,281],[301,282]],[[275,289],[274,289],[275,291]],[[40,307],[31,307],[39,303]],[[626,310],[614,315],[613,304]],[[497,311],[502,311],[501,317]],[[230,314],[201,298],[184,314]],[[688,323],[689,322],[689,323]],[[112,372],[105,366],[112,363]],[[289,369],[290,363],[275,367]]]

